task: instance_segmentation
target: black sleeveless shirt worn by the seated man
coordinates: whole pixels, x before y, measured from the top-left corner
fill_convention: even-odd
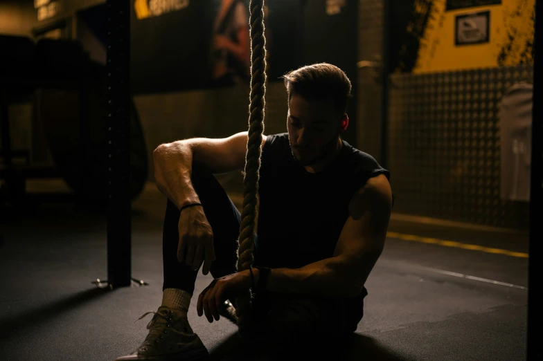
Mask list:
[[[353,194],[371,177],[390,177],[375,158],[342,141],[334,163],[313,174],[292,155],[288,133],[267,136],[260,159],[254,266],[301,268],[332,257]],[[366,295],[364,288],[352,301],[359,300],[361,307]]]

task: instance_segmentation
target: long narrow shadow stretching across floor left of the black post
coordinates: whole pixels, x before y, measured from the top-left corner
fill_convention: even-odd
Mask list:
[[[30,311],[18,313],[12,317],[6,317],[0,320],[0,338],[8,340],[10,337],[16,337],[25,328],[30,328],[39,324],[44,324],[57,315],[70,311],[74,308],[91,302],[111,292],[109,288],[90,288],[80,293],[75,293],[65,299],[33,308]],[[17,331],[17,332],[14,332]]]

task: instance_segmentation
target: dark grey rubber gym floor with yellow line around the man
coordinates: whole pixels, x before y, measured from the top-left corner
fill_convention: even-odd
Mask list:
[[[107,277],[103,216],[66,203],[1,214],[0,360],[108,361],[139,346],[151,316],[134,321],[161,302],[165,209],[152,184],[132,204],[132,276],[148,286],[117,290],[91,284]],[[326,360],[524,360],[527,252],[521,232],[393,216],[364,319]],[[235,324],[196,314],[211,279],[200,273],[188,318],[212,359],[233,360]]]

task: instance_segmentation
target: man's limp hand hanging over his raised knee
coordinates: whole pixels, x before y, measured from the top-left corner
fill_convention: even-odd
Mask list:
[[[203,261],[202,272],[207,275],[211,269],[211,262],[215,261],[215,248],[213,230],[202,206],[197,205],[181,211],[178,229],[177,260],[193,270],[199,270]]]

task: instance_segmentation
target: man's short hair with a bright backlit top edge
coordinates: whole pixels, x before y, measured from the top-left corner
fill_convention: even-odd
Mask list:
[[[292,94],[311,100],[334,101],[337,111],[345,112],[347,100],[353,95],[350,80],[337,66],[327,63],[302,66],[281,77],[287,87],[290,102]]]

